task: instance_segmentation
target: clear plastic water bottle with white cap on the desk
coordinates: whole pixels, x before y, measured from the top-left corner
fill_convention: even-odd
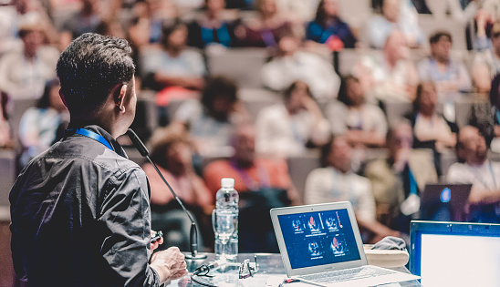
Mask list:
[[[217,258],[224,253],[227,260],[234,260],[238,255],[238,201],[240,197],[234,190],[234,179],[221,179],[221,186],[215,196],[218,231],[215,231],[214,251]],[[219,233],[218,236],[217,233]],[[224,236],[229,236],[225,246]]]

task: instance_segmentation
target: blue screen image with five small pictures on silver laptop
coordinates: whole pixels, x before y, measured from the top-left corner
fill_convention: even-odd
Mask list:
[[[348,210],[278,216],[293,269],[359,260]]]

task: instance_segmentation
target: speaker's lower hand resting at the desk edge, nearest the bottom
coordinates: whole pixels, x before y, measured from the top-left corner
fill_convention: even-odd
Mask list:
[[[151,268],[158,273],[161,283],[179,279],[188,273],[184,254],[177,247],[153,253]]]

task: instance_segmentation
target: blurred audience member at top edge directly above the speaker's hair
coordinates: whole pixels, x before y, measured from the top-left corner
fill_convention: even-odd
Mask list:
[[[60,29],[60,45],[64,49],[71,40],[87,32],[96,32],[102,20],[99,0],[81,0],[81,8],[68,16]]]

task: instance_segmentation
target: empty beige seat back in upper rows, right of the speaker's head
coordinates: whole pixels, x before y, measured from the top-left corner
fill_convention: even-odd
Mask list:
[[[232,77],[240,87],[262,87],[260,70],[267,58],[265,48],[229,48],[206,51],[210,75]]]

